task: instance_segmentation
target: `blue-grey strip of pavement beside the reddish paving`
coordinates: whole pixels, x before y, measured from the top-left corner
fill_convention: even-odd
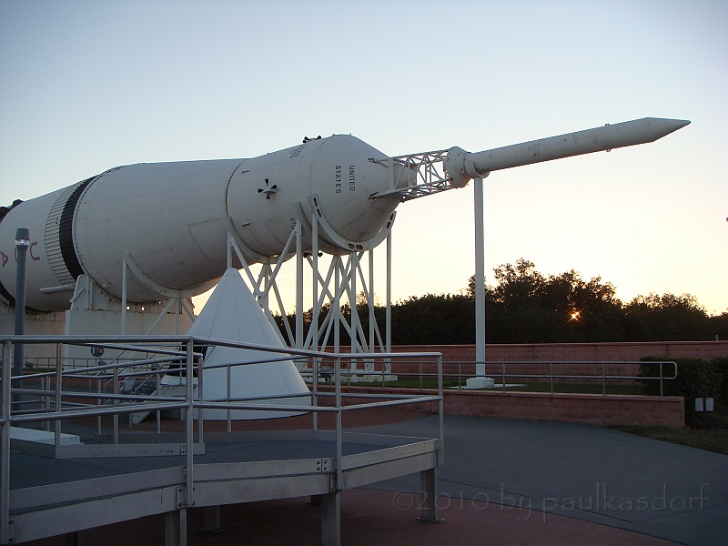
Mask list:
[[[436,427],[430,416],[377,429],[419,436]],[[446,417],[439,478],[441,506],[490,501],[540,520],[560,515],[681,544],[728,544],[728,456],[711,451],[580,423]],[[375,487],[419,485],[408,476]]]

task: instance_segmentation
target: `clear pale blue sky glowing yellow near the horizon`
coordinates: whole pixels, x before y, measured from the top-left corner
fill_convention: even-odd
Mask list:
[[[723,312],[726,2],[0,2],[4,205],[303,136],[477,151],[644,116],[693,123],[485,180],[488,281],[523,257]],[[398,210],[394,297],[465,288],[472,188]]]

